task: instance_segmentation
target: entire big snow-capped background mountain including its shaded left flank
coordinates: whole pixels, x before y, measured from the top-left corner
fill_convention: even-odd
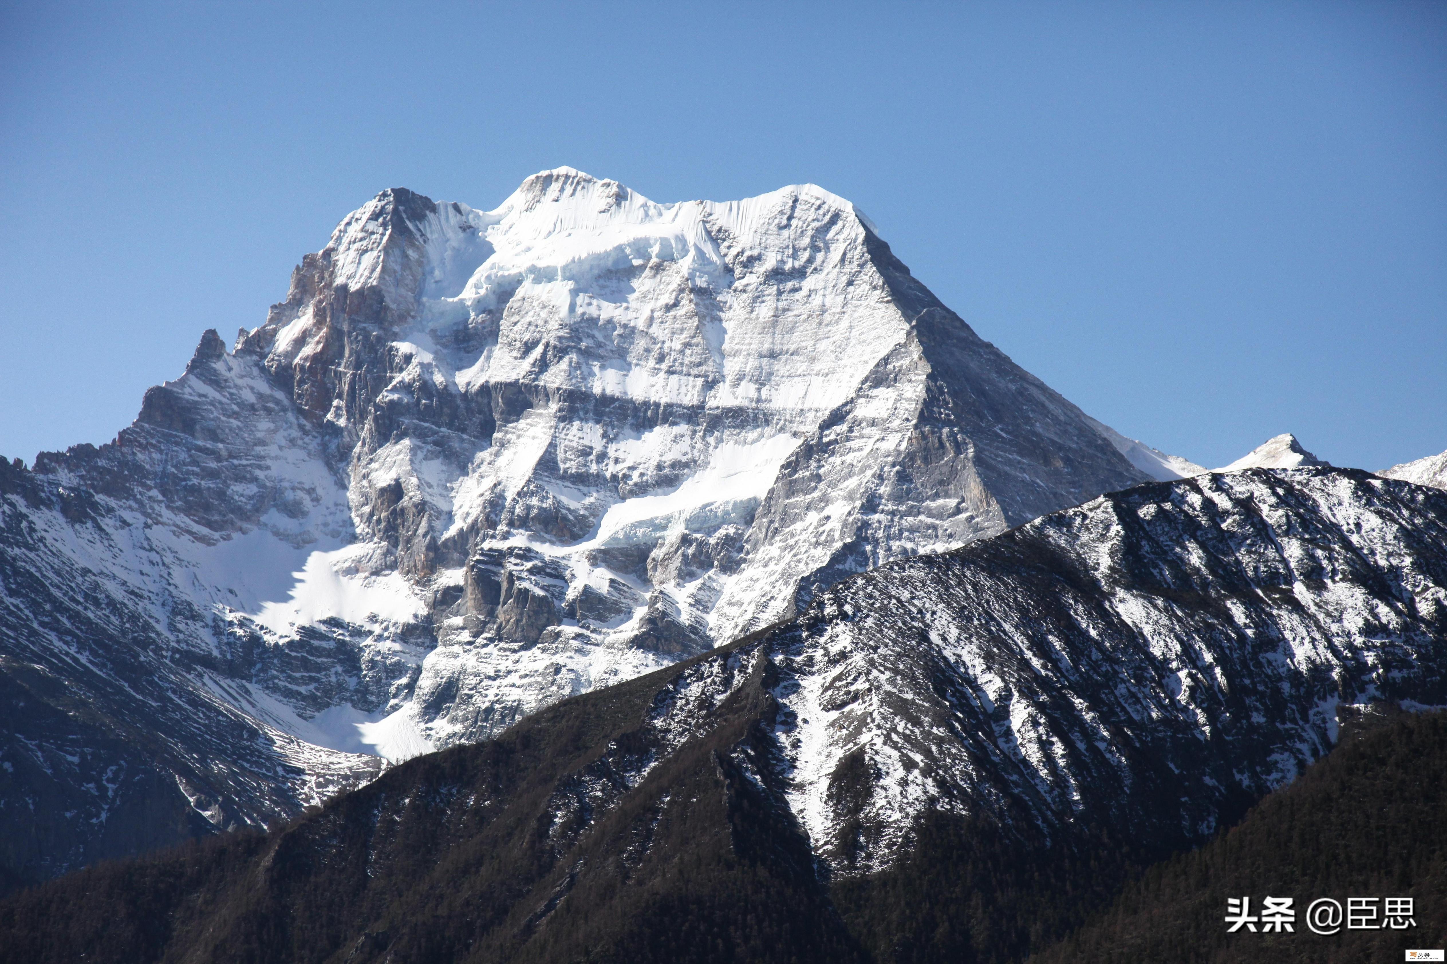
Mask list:
[[[0,475],[6,866],[295,814],[1143,478],[819,188],[386,191],[113,444]]]

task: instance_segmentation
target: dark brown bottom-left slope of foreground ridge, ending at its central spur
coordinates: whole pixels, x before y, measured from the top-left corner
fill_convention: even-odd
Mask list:
[[[412,760],[269,835],[25,892],[0,905],[0,960],[860,960],[807,843],[719,753],[765,689],[653,766],[667,684]]]

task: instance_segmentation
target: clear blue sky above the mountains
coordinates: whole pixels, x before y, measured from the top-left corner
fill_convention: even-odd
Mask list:
[[[1447,4],[0,3],[0,452],[103,442],[378,191],[812,181],[1121,432],[1447,449]]]

